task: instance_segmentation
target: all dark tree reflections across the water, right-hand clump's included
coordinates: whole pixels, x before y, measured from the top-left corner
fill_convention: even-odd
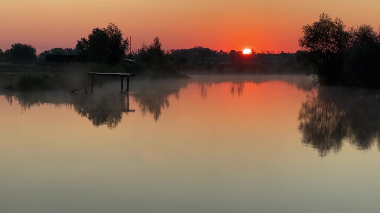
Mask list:
[[[136,111],[136,107],[143,116],[149,115],[155,121],[159,121],[163,111],[169,109],[170,97],[179,100],[181,89],[186,90],[188,85],[197,85],[199,92],[195,94],[199,94],[201,99],[207,99],[207,91],[213,87],[220,91],[222,91],[220,88],[227,87],[230,94],[223,93],[222,95],[230,96],[233,104],[236,100],[234,98],[239,99],[247,86],[256,85],[258,88],[265,88],[270,83],[273,87],[273,84],[277,82],[296,87],[304,92],[305,100],[302,101],[298,113],[298,130],[302,133],[301,143],[316,149],[320,156],[325,156],[331,151],[338,153],[344,142],[359,150],[369,150],[373,144],[379,143],[379,91],[313,87],[302,78],[294,81],[290,79],[228,81],[222,78],[217,81],[208,79],[206,76],[206,78],[197,77],[193,81],[141,81],[135,83],[136,89],[127,94],[68,95],[63,92],[46,92],[6,95],[5,99],[9,104],[17,103],[22,111],[44,104],[54,105],[54,107],[71,107],[79,115],[87,117],[94,127],[106,125],[113,129],[122,121],[123,114],[125,117],[128,116],[128,113]],[[249,92],[252,93],[252,91]],[[133,99],[134,109],[130,109],[130,98]],[[256,97],[252,96],[250,99],[255,101]]]

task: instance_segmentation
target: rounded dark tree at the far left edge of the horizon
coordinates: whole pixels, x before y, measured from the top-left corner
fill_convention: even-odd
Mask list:
[[[12,44],[11,49],[6,50],[10,62],[14,64],[32,64],[36,61],[36,49],[28,44]]]

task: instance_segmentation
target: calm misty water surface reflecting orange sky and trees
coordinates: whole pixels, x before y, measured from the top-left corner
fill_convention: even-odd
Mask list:
[[[0,95],[0,212],[378,212],[380,98],[301,76]]]

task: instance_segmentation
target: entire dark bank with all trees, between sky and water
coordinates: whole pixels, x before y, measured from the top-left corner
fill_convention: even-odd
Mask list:
[[[371,25],[347,28],[341,19],[323,13],[302,32],[302,50],[296,53],[252,49],[251,54],[243,54],[201,46],[165,50],[158,37],[131,51],[129,39],[109,23],[106,28],[94,28],[74,48],[57,47],[38,56],[28,44],[16,43],[5,52],[0,50],[0,85],[16,90],[67,89],[89,71],[133,72],[135,79],[186,78],[191,74],[312,74],[315,83],[321,85],[380,85],[380,32]],[[87,60],[67,63],[58,75],[49,70],[52,62],[44,60],[47,55],[85,55]]]

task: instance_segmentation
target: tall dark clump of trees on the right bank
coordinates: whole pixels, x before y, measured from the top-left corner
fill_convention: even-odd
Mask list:
[[[346,28],[328,14],[302,28],[299,59],[323,85],[380,86],[380,33],[369,24]]]

